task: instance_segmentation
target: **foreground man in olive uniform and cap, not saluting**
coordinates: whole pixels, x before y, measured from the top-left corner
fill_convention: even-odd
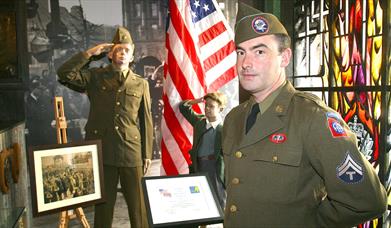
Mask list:
[[[237,70],[251,97],[225,118],[224,227],[352,227],[386,210],[386,192],[341,116],[286,80],[290,37],[239,3]]]

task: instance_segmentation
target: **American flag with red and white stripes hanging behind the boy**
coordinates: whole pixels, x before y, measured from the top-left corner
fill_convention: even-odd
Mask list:
[[[188,173],[193,128],[178,104],[236,77],[233,32],[214,0],[169,0],[161,125],[163,175]],[[202,113],[203,105],[194,107]]]

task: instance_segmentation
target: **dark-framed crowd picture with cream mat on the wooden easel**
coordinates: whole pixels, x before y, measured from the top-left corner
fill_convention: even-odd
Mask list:
[[[105,200],[100,140],[29,148],[33,216]]]

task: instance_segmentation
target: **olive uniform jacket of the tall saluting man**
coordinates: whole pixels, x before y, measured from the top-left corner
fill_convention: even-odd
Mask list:
[[[86,140],[101,139],[103,164],[143,165],[152,156],[152,115],[148,82],[131,70],[119,81],[112,65],[88,69],[90,60],[79,53],[57,71],[60,83],[86,92],[90,112]]]

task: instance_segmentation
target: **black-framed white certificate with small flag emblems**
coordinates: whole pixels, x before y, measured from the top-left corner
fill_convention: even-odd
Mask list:
[[[223,222],[207,173],[142,178],[149,227],[194,227]]]

